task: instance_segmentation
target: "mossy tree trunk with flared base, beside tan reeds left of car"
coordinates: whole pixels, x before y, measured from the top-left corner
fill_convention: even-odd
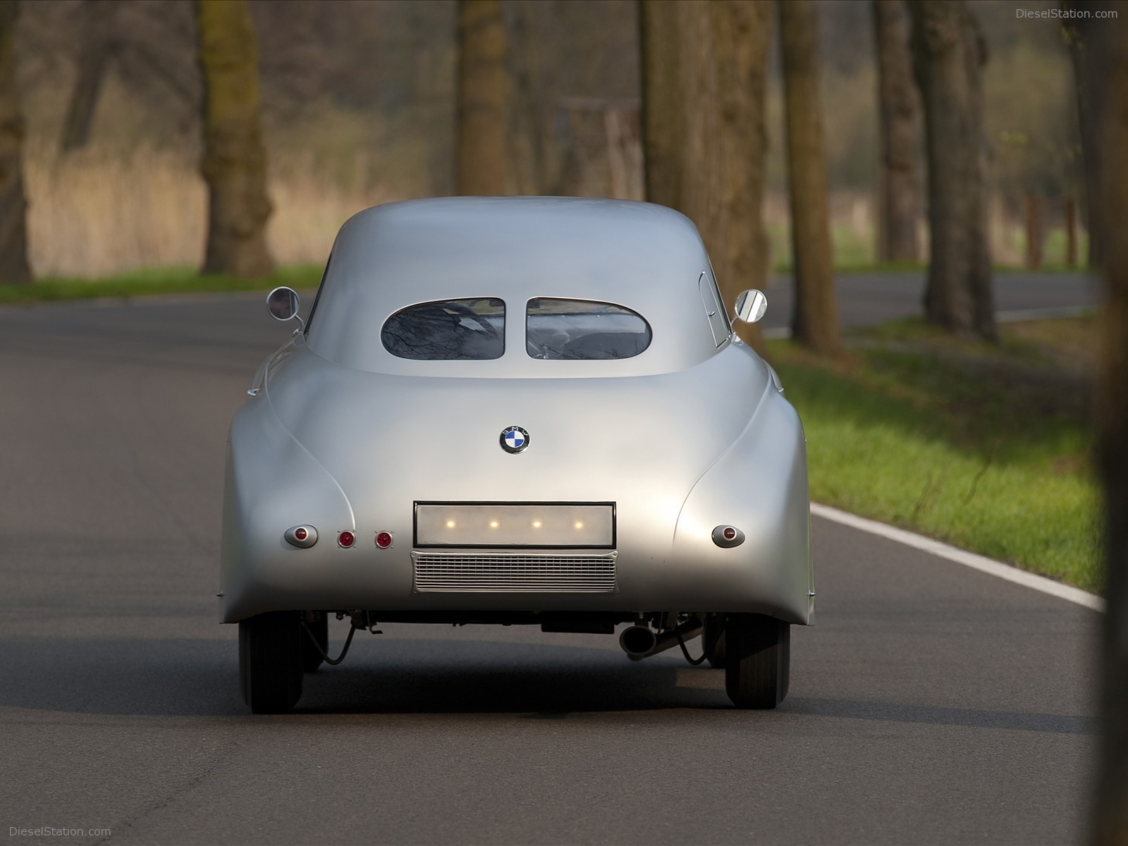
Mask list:
[[[196,0],[203,79],[208,247],[204,273],[265,276],[266,150],[259,125],[258,45],[246,0]]]

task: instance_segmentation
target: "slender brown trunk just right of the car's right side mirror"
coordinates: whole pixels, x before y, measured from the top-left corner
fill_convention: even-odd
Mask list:
[[[817,353],[834,354],[841,337],[822,155],[818,18],[812,0],[785,0],[778,8],[795,277],[792,334]]]

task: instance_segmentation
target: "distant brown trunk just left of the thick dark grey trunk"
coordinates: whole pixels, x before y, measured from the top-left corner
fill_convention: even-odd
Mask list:
[[[881,138],[878,258],[915,262],[920,256],[920,99],[913,82],[904,0],[873,0],[873,29]]]

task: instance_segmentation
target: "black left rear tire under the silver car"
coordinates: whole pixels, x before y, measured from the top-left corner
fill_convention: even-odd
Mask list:
[[[239,685],[253,714],[282,714],[301,698],[301,627],[297,611],[239,623]]]

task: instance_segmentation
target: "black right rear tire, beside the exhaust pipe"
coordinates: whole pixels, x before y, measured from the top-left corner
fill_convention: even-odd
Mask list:
[[[763,614],[730,614],[724,689],[738,708],[774,708],[787,695],[791,625]]]

